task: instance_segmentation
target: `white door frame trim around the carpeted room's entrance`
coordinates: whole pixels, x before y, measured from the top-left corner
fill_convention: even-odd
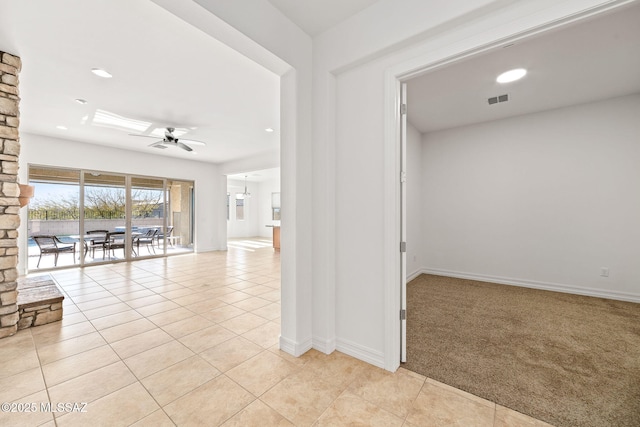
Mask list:
[[[401,121],[402,84],[413,77],[423,75],[447,65],[469,59],[493,49],[519,42],[530,37],[565,27],[587,18],[606,13],[631,3],[630,0],[614,0],[606,4],[566,15],[560,19],[533,24],[529,29],[500,37],[509,32],[504,26],[494,27],[490,34],[479,39],[488,41],[473,46],[473,38],[463,38],[455,43],[433,48],[409,60],[389,67],[384,76],[384,368],[395,371],[400,367],[403,342],[402,322],[402,257],[399,242],[402,241],[401,209]],[[553,13],[553,12],[551,12]],[[406,278],[404,279],[406,281]],[[410,314],[408,314],[410,315]]]

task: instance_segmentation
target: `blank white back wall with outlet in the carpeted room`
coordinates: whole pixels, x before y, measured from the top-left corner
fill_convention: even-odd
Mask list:
[[[636,94],[424,135],[425,269],[640,301],[639,117]]]

